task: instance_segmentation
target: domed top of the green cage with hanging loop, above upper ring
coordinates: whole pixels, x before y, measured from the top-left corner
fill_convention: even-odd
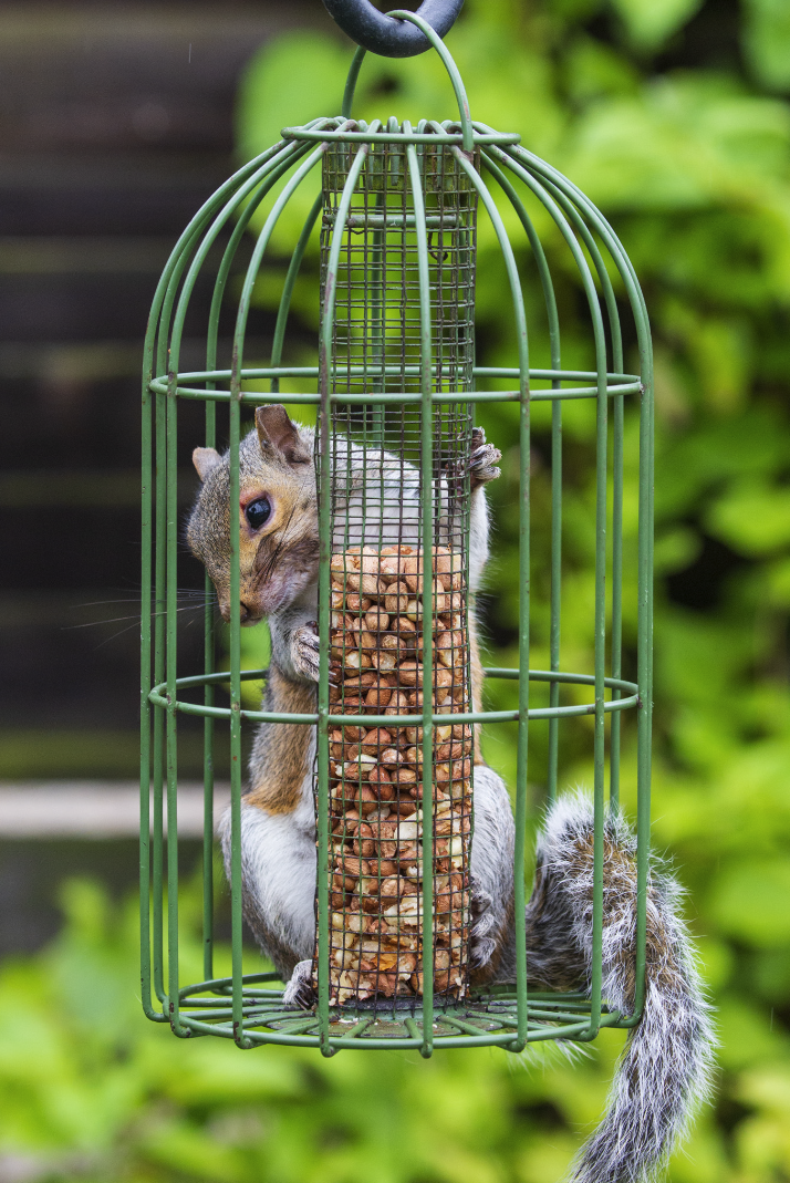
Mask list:
[[[381,13],[367,4],[367,0],[360,0],[360,4],[369,8],[377,18],[384,19]],[[342,8],[345,12],[347,4],[345,0],[334,0],[332,4],[328,4],[328,7],[334,15],[337,15],[335,8]],[[354,5],[350,7],[354,8]],[[335,235],[338,254],[344,232],[374,230],[377,219],[381,221],[380,228],[384,231],[391,231],[399,225],[414,231],[419,222],[417,228],[425,226],[429,232],[449,233],[451,221],[454,216],[449,208],[443,211],[429,208],[429,199],[428,202],[417,200],[420,209],[416,211],[414,198],[406,193],[409,186],[414,190],[415,186],[412,182],[415,181],[417,173],[425,173],[426,154],[427,156],[439,154],[440,160],[443,161],[440,166],[434,166],[433,169],[435,173],[434,190],[438,192],[442,187],[451,189],[453,185],[458,185],[458,180],[451,180],[454,175],[456,179],[462,177],[460,181],[462,188],[470,188],[474,192],[475,202],[479,200],[483,203],[491,219],[505,260],[512,297],[519,366],[517,369],[511,367],[507,371],[501,368],[488,369],[488,376],[516,377],[517,374],[520,374],[525,388],[532,384],[531,399],[537,401],[546,397],[590,397],[595,396],[597,390],[603,387],[609,388],[610,395],[634,394],[641,390],[645,373],[652,366],[649,325],[634,269],[622,245],[592,202],[557,169],[523,148],[517,134],[500,132],[472,119],[458,67],[440,35],[421,15],[422,11],[428,7],[429,5],[425,4],[419,13],[406,11],[390,13],[386,19],[401,27],[415,27],[420,33],[422,44],[419,49],[412,46],[410,53],[422,52],[423,47],[433,46],[441,57],[458,102],[458,121],[440,123],[423,118],[413,127],[409,122],[399,124],[394,117],[387,122],[374,119],[369,124],[361,119],[354,119],[351,117],[354,93],[367,52],[365,47],[361,46],[349,71],[341,115],[315,118],[303,127],[283,128],[283,138],[279,143],[239,169],[205,203],[181,235],[160,282],[149,322],[147,360],[150,363],[156,393],[164,393],[166,388],[175,393],[177,388],[177,393],[183,397],[202,397],[206,393],[205,389],[196,390],[194,383],[200,382],[202,386],[203,382],[209,382],[211,397],[214,401],[228,399],[231,389],[237,387],[235,393],[244,401],[255,401],[254,394],[242,392],[245,382],[259,383],[261,379],[271,379],[274,383],[272,390],[277,393],[280,376],[304,375],[310,377],[317,374],[316,369],[302,367],[294,375],[293,367],[281,367],[281,355],[293,287],[310,235],[322,212],[320,196],[312,206],[302,234],[294,244],[279,306],[271,364],[268,367],[258,366],[254,369],[244,368],[245,334],[253,290],[264,264],[264,257],[271,248],[272,235],[283,211],[315,168],[323,166],[324,173],[326,173],[329,159],[332,161],[334,183],[337,186],[331,232]],[[456,8],[459,7],[460,5],[456,5]],[[393,18],[397,18],[397,21]],[[381,180],[383,175],[381,157],[388,149],[387,168],[390,172],[399,168],[401,170],[404,189],[403,208],[400,211],[393,208],[384,214],[368,208],[369,203],[363,202],[364,208],[354,209],[355,194],[358,189],[387,187]],[[399,149],[402,150],[402,155],[399,154]],[[414,176],[409,163],[412,155],[417,168]],[[448,167],[447,161],[452,161],[452,167]],[[376,174],[378,180],[376,180]],[[527,325],[519,270],[503,215],[484,174],[487,174],[496,182],[511,205],[533,254],[549,322],[550,369],[530,373]],[[324,187],[325,185],[326,180],[324,180]],[[430,182],[427,181],[426,185],[429,187]],[[523,200],[522,193],[524,192],[537,199],[555,222],[579,272],[590,313],[595,371],[565,370],[562,373],[559,321],[552,277],[545,251]],[[241,297],[238,303],[232,364],[229,369],[218,370],[218,321],[220,306],[226,296],[228,276],[239,247],[253,225],[257,212],[267,198],[271,198],[273,203],[258,234],[254,251],[246,267]],[[406,205],[409,207],[408,211]],[[326,216],[326,212],[324,216]],[[231,226],[233,232],[224,248],[208,318],[206,367],[200,371],[190,370],[188,375],[184,375],[189,381],[182,382],[179,377],[179,368],[183,327],[195,285],[206,266],[209,252],[222,240],[226,230]],[[623,374],[622,331],[613,274],[617,276],[622,284],[634,318],[640,355],[640,375]],[[324,295],[331,304],[331,291],[328,290]],[[326,331],[329,331],[331,321],[331,317],[326,315],[329,309],[325,308],[322,313],[322,324]],[[323,341],[323,344],[326,345],[326,342]],[[226,361],[231,361],[231,357],[228,356]],[[530,379],[532,379],[532,383]],[[535,388],[536,380],[553,380],[557,387],[566,386],[568,382],[574,383],[574,386],[544,392]],[[587,384],[579,387],[578,383],[584,380],[594,380],[595,387]],[[228,381],[229,389],[224,384],[219,387],[216,384]],[[511,396],[518,397],[519,395],[514,392]],[[486,399],[501,401],[503,395],[487,394],[483,390],[475,392],[474,401],[484,402]],[[296,397],[289,395],[289,401],[317,402],[318,400],[315,396],[297,394]]]

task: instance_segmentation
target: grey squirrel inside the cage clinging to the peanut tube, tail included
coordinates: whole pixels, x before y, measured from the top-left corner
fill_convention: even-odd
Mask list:
[[[255,413],[241,441],[241,622],[266,618],[272,638],[263,709],[315,710],[318,677],[318,517],[313,432],[293,424],[285,408]],[[343,441],[343,463],[365,470],[365,481],[402,483],[400,541],[417,528],[419,473],[387,453]],[[187,539],[229,619],[228,454],[195,448],[201,487]],[[474,592],[488,556],[485,485],[499,476],[499,452],[475,429],[471,474],[470,573]],[[373,476],[371,476],[373,474]],[[377,474],[377,476],[376,476]],[[404,483],[404,484],[403,484]],[[368,493],[370,496],[370,492]],[[375,502],[376,498],[374,497]],[[355,519],[351,493],[348,522]],[[407,509],[403,509],[406,503]],[[410,515],[408,505],[414,512]],[[406,523],[406,526],[404,526]],[[375,542],[363,523],[365,541]],[[387,523],[378,523],[381,542]],[[344,535],[348,542],[348,534]],[[354,539],[351,539],[354,541]],[[473,699],[481,668],[473,648]],[[287,983],[286,1002],[305,1000],[315,942],[316,828],[312,729],[260,724],[241,803],[242,906],[261,950]],[[514,971],[513,838],[510,797],[501,778],[475,755],[472,845],[472,984],[512,982]],[[220,823],[226,866],[229,812]],[[611,1006],[633,1013],[636,917],[635,839],[627,822],[606,821],[603,881],[603,990]],[[640,1023],[629,1032],[609,1106],[575,1166],[578,1183],[637,1183],[654,1175],[710,1087],[713,1036],[708,1007],[688,933],[679,913],[680,888],[655,859],[648,875],[647,994]],[[538,838],[535,886],[525,914],[530,984],[589,990],[592,930],[592,807],[583,794],[559,799]]]

